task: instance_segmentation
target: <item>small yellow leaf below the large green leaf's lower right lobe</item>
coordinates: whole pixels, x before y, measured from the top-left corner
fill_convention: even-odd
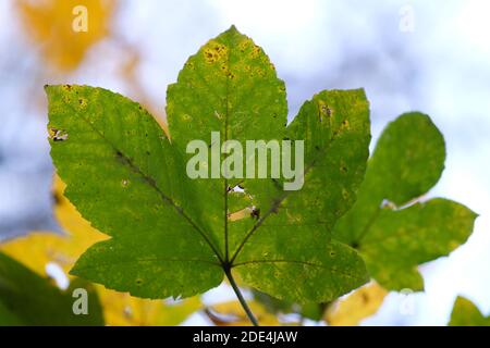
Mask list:
[[[387,295],[388,291],[377,283],[369,283],[333,303],[327,310],[326,321],[332,326],[358,325],[378,311]]]

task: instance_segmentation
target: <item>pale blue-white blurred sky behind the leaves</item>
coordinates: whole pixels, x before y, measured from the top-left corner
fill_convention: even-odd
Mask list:
[[[160,111],[167,85],[175,82],[186,58],[234,24],[274,62],[279,77],[286,84],[290,120],[317,91],[364,87],[371,105],[372,148],[387,123],[401,113],[417,110],[429,114],[444,134],[448,158],[442,178],[428,197],[462,202],[479,217],[464,246],[448,258],[421,265],[424,294],[390,294],[379,313],[364,324],[443,325],[457,295],[468,297],[483,313],[490,313],[490,2],[121,2],[112,33],[142,52],[138,83]],[[46,114],[38,108],[45,101],[36,91],[39,84],[32,83],[38,82],[36,74],[41,74],[41,58],[12,12],[12,1],[2,0],[3,237],[35,226],[59,229],[50,214],[52,166]],[[102,86],[137,99],[134,88],[121,82],[118,74],[121,55],[124,47],[102,40],[69,76],[50,76],[41,83],[70,78],[70,83]],[[222,286],[206,298],[212,302],[229,295],[230,289]],[[187,323],[204,320],[195,315]]]

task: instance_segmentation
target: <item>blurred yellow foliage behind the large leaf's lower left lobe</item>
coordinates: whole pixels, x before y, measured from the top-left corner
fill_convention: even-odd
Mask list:
[[[47,276],[48,263],[60,265],[68,274],[78,257],[93,244],[107,239],[76,211],[63,196],[64,183],[54,178],[54,214],[70,235],[33,233],[0,245],[0,249],[33,271]],[[97,285],[107,325],[177,325],[201,308],[200,300],[189,298],[176,303],[134,298]]]

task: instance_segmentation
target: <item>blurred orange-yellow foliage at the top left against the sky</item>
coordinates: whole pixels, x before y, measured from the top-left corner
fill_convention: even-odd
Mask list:
[[[86,51],[109,34],[115,3],[115,0],[15,1],[27,35],[39,45],[46,60],[62,72],[75,69]],[[77,7],[87,10],[87,32],[73,29]]]

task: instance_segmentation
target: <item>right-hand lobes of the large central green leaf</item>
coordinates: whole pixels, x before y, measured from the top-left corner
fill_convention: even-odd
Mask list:
[[[235,265],[245,282],[280,299],[322,302],[367,281],[357,252],[330,237],[363,179],[368,110],[363,90],[323,91],[302,107],[286,130],[291,139],[305,139],[303,188],[248,183],[260,185],[256,204],[267,209],[234,252],[242,251]]]

